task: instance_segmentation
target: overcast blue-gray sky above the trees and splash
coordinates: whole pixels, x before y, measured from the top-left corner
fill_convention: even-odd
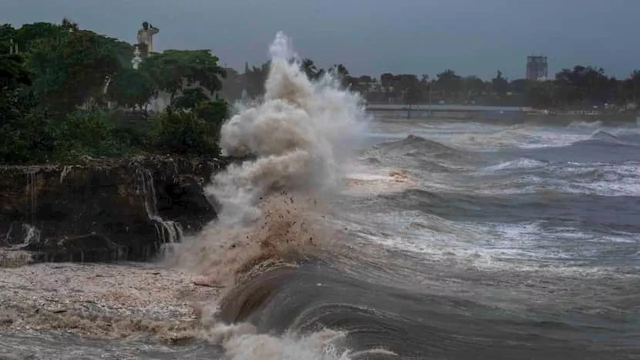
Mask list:
[[[236,69],[268,59],[278,30],[296,51],[352,74],[525,75],[577,63],[625,77],[640,68],[640,0],[0,0],[0,22],[60,22],[135,42],[147,20],[163,49],[212,49]]]

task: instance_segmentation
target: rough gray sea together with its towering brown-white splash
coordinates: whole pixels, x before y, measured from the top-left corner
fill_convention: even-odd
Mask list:
[[[274,67],[266,100],[223,131],[224,149],[259,159],[214,179],[221,220],[175,250],[231,289],[197,340],[13,334],[0,356],[640,358],[636,124],[367,119]],[[248,258],[259,270],[234,277]]]

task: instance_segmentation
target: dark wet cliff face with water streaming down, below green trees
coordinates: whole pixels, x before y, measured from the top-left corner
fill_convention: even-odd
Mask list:
[[[0,167],[0,247],[39,261],[150,259],[216,218],[203,186],[227,160]]]

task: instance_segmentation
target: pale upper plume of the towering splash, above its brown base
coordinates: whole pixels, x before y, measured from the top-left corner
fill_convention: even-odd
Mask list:
[[[218,174],[207,189],[221,202],[220,221],[226,224],[255,220],[260,197],[280,190],[330,190],[364,132],[360,97],[330,77],[310,82],[290,61],[289,44],[278,33],[264,100],[241,110],[221,129],[223,154],[257,156]]]

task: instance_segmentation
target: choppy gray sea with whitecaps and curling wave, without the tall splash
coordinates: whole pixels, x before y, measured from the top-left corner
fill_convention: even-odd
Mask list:
[[[353,251],[254,277],[223,320],[342,331],[356,359],[640,358],[637,127],[376,121],[348,177],[329,222]],[[4,357],[224,356],[23,334],[0,336]]]

